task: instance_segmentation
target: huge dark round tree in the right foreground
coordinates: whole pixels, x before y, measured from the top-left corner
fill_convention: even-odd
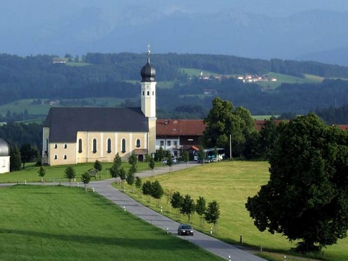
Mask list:
[[[298,117],[280,126],[269,161],[269,182],[246,203],[260,231],[300,240],[300,251],[347,236],[347,132],[314,114]]]

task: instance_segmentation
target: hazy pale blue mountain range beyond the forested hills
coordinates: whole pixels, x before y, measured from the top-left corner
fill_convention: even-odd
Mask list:
[[[73,15],[11,28],[0,26],[1,52],[83,54],[87,52],[229,54],[251,58],[313,60],[348,65],[348,12],[303,11],[287,17],[239,9],[170,14],[133,6],[86,8]]]

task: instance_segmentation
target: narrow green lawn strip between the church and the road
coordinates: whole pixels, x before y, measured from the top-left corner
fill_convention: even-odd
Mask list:
[[[107,178],[111,178],[109,171],[107,169],[109,169],[112,165],[112,163],[102,163],[103,165],[103,170],[102,173],[100,175],[100,177],[98,176],[97,179],[107,179]],[[156,162],[156,166],[161,165],[160,162]],[[75,173],[76,173],[76,182],[80,182],[81,181],[81,175],[91,169],[93,167],[93,163],[82,163],[82,164],[76,164],[76,165],[71,165],[74,167],[75,169]],[[0,183],[16,183],[17,181],[19,183],[24,183],[25,181],[27,182],[40,182],[41,178],[38,175],[38,170],[39,167],[35,167],[34,163],[31,164],[26,164],[25,165],[25,169],[24,170],[20,170],[20,171],[15,171],[15,172],[10,172],[10,173],[4,173],[4,174],[0,174]],[[130,165],[126,162],[122,163],[122,167],[128,171]],[[67,181],[66,179],[64,179],[64,170],[65,170],[66,166],[62,165],[62,166],[46,166],[46,181],[47,182],[63,182],[63,181]],[[148,165],[146,162],[139,162],[138,163],[138,171],[142,171],[142,170],[147,170],[148,169]],[[92,178],[94,179],[94,178]]]

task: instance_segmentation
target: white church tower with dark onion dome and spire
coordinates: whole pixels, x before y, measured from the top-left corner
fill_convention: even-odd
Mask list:
[[[149,117],[148,151],[156,152],[156,70],[150,64],[150,45],[147,46],[147,64],[141,68],[141,111]]]

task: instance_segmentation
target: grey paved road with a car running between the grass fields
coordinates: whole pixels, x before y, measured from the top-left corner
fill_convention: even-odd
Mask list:
[[[188,165],[189,167],[197,166],[196,163],[190,163]],[[177,164],[172,166],[172,171],[177,171],[181,169],[185,169],[187,166],[186,164]],[[160,175],[167,173],[169,171],[169,167],[161,167],[157,168],[154,171],[154,175]],[[152,171],[145,171],[141,173],[137,173],[137,176],[139,177],[149,177],[152,175]],[[105,196],[106,198],[113,201],[115,204],[119,205],[120,207],[125,207],[126,211],[129,211],[130,213],[144,219],[148,223],[151,223],[159,228],[162,228],[163,230],[167,231],[167,228],[169,229],[170,233],[175,234],[177,233],[177,227],[179,223],[175,222],[174,220],[165,217],[161,215],[160,213],[138,203],[131,197],[125,195],[124,193],[118,191],[114,187],[112,187],[112,183],[114,182],[114,179],[108,179],[108,180],[102,180],[102,181],[94,181],[89,184],[90,188],[94,188],[96,192],[101,194],[102,196]],[[35,183],[42,185],[42,183]],[[0,184],[0,187],[9,187],[16,185],[16,183],[11,184]],[[57,183],[45,183],[45,185],[57,185]],[[64,183],[62,185],[69,185],[68,183]],[[76,184],[75,184],[76,185]],[[261,259],[259,257],[256,257],[252,254],[249,254],[245,251],[242,251],[238,249],[237,247],[234,247],[232,245],[226,244],[216,238],[210,237],[206,234],[203,234],[201,232],[195,231],[194,236],[177,236],[180,238],[183,238],[185,240],[188,240],[198,246],[200,246],[203,249],[206,249],[209,252],[214,253],[217,256],[220,256],[226,260],[229,260],[229,256],[231,256],[232,261],[265,261],[264,259]]]

